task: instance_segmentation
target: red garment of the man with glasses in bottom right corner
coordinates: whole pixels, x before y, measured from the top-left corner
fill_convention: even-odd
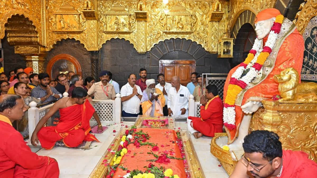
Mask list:
[[[281,178],[307,178],[317,175],[316,162],[308,159],[303,151],[283,150],[283,170]]]

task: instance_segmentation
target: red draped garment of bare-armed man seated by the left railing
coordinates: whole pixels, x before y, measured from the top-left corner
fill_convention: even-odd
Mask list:
[[[63,140],[67,147],[76,147],[83,141],[99,140],[89,133],[91,130],[89,120],[94,114],[94,107],[88,100],[82,105],[74,104],[59,109],[60,121],[56,126],[42,127],[37,133],[41,146],[52,149],[55,142]]]

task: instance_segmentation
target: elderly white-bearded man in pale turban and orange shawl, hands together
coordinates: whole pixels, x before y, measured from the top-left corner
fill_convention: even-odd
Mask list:
[[[163,116],[165,98],[163,93],[155,88],[155,80],[146,80],[146,89],[143,91],[141,99],[143,116]]]

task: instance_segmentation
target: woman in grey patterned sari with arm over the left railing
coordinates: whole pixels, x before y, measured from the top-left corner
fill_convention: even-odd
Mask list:
[[[42,102],[40,99],[31,96],[26,96],[27,89],[28,86],[26,86],[26,84],[23,82],[17,82],[16,84],[14,84],[14,91],[16,92],[16,95],[19,95],[23,98],[24,107],[28,109],[29,104],[32,101],[36,102],[37,105],[41,104]],[[18,131],[22,134],[23,137],[29,135],[28,121],[28,111],[25,111],[23,118],[18,122]]]

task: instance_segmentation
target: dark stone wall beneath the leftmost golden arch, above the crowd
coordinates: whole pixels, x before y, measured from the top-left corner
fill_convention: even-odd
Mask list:
[[[9,72],[16,67],[26,68],[26,61],[24,57],[20,54],[14,53],[14,47],[10,46],[7,40],[7,33],[1,39],[3,48],[3,62],[4,62],[4,72],[9,76]]]

